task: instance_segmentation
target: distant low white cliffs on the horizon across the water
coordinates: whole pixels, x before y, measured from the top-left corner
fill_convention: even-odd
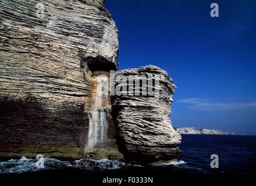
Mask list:
[[[224,132],[222,130],[215,129],[196,129],[195,127],[182,127],[175,128],[179,134],[205,134],[205,135],[236,135],[235,133]]]

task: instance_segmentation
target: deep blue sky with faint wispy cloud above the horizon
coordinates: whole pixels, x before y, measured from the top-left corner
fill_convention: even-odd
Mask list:
[[[219,17],[210,5],[219,4]],[[256,135],[256,1],[106,0],[119,69],[155,65],[177,86],[174,127]]]

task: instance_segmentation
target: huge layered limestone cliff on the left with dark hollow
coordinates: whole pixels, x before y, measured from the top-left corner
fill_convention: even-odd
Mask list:
[[[103,2],[0,0],[0,156],[115,145],[109,98],[95,96],[97,76],[118,67]]]

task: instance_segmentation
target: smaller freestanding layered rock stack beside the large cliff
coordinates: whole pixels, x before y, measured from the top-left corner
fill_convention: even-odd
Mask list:
[[[181,137],[169,119],[175,90],[172,78],[155,66],[115,73],[112,109],[119,149],[127,159],[154,161],[182,155],[177,147]]]

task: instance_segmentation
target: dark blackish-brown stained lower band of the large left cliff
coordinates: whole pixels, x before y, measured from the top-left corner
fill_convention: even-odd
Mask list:
[[[5,97],[0,100],[0,123],[2,157],[35,153],[72,157],[84,145],[88,117],[80,103]]]

